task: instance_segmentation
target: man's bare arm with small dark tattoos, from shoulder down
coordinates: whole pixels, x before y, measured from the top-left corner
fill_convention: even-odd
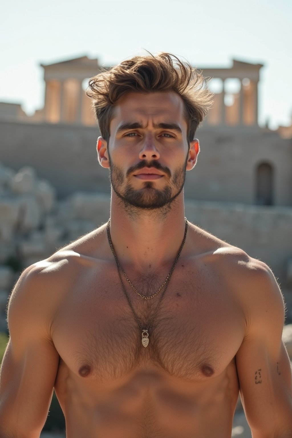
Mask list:
[[[281,341],[285,318],[278,284],[261,262],[243,281],[246,336],[236,354],[240,394],[253,438],[292,437],[290,362]]]

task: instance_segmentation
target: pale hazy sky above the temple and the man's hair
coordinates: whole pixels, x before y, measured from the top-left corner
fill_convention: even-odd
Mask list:
[[[44,102],[40,63],[87,55],[113,65],[147,49],[196,67],[264,64],[259,122],[291,123],[292,0],[4,0],[1,12],[0,101],[28,113]]]

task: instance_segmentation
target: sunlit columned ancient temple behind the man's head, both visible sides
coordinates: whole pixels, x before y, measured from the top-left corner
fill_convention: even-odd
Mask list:
[[[46,83],[45,105],[36,112],[35,121],[94,125],[91,101],[85,94],[88,78],[101,71],[98,59],[87,56],[41,64]],[[262,64],[232,61],[230,68],[198,67],[215,93],[215,101],[205,124],[257,125],[258,83]],[[103,67],[109,68],[109,67]]]

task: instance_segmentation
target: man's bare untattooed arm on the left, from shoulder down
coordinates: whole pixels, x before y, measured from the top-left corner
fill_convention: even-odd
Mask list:
[[[0,438],[39,437],[59,363],[49,336],[50,303],[39,269],[18,280],[8,307],[10,341],[0,372]]]

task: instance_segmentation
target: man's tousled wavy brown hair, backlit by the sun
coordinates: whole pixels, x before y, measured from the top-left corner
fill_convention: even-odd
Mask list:
[[[120,97],[128,92],[176,92],[185,105],[187,138],[192,141],[213,102],[206,87],[208,79],[172,53],[149,53],[97,74],[89,80],[86,94],[92,99],[102,137],[108,141],[109,124]]]

